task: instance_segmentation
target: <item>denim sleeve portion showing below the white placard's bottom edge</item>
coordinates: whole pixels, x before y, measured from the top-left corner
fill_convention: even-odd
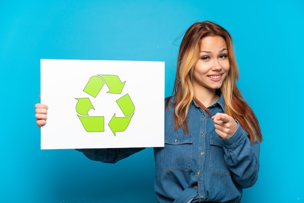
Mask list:
[[[119,160],[127,158],[128,156],[144,149],[145,148],[77,149],[77,151],[83,152],[87,158],[93,161],[115,164]]]

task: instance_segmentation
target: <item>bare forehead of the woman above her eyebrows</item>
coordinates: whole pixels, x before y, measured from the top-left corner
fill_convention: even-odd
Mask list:
[[[201,39],[200,43],[201,50],[217,50],[217,49],[227,49],[226,41],[221,36],[205,36]]]

